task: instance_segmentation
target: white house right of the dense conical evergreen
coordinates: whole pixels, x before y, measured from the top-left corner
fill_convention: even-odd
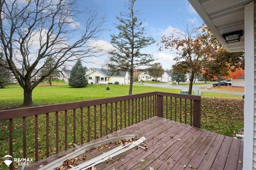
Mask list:
[[[111,72],[106,69],[91,68],[86,71],[86,75],[89,79],[88,82],[93,84],[114,84],[116,81],[119,82],[119,84],[130,83],[130,74],[127,71],[111,74]]]

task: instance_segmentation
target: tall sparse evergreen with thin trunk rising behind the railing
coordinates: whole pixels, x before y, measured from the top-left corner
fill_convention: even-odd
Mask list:
[[[135,0],[130,0],[127,5],[129,13],[122,12],[117,17],[119,25],[116,28],[119,34],[111,35],[111,44],[115,49],[109,53],[107,64],[112,71],[130,73],[129,95],[132,94],[134,71],[138,71],[141,66],[149,66],[154,61],[151,54],[142,53],[141,49],[155,43],[151,36],[145,37],[145,27],[137,18],[138,12],[134,11],[134,3]]]

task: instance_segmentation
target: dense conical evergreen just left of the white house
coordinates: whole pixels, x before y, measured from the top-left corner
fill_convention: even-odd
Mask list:
[[[70,77],[68,79],[69,86],[75,88],[86,87],[88,84],[86,70],[87,68],[83,67],[81,60],[78,60],[70,72]]]

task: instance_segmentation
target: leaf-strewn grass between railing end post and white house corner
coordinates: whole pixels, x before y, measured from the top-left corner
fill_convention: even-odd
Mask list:
[[[235,136],[244,124],[244,101],[239,98],[205,98],[201,100],[201,128]]]

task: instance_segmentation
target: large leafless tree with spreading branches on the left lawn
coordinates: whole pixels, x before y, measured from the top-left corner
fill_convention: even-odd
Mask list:
[[[0,0],[2,62],[23,88],[23,105],[33,104],[33,89],[54,70],[67,62],[96,55],[98,48],[90,41],[99,36],[102,22],[88,12],[83,30],[80,29],[74,20],[80,13],[74,10],[75,4],[75,0]],[[31,83],[49,56],[55,61],[52,69]]]

